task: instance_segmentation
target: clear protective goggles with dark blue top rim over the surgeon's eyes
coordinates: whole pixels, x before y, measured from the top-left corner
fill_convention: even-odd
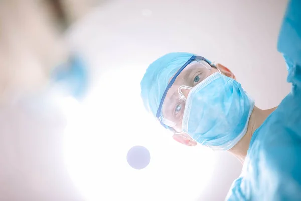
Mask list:
[[[172,77],[156,113],[162,126],[173,132],[181,132],[187,94],[212,74],[210,64],[204,57],[192,56]]]

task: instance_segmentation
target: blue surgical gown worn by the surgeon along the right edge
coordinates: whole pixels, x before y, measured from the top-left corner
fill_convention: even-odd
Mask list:
[[[278,50],[291,92],[254,132],[227,200],[301,200],[301,0],[288,3]]]

